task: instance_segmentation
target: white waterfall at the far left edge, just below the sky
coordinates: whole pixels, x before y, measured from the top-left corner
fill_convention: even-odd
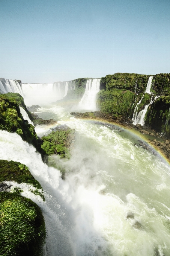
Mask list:
[[[22,85],[17,80],[0,78],[1,93],[20,93],[23,96]]]

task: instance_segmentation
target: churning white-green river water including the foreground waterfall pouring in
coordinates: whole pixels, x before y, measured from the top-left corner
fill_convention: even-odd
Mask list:
[[[44,107],[38,115],[75,129],[71,158],[56,155],[47,166],[33,146],[6,131],[0,131],[0,158],[27,165],[44,189],[45,202],[22,193],[44,214],[44,254],[169,256],[170,166],[164,158],[134,145],[140,138],[130,131],[75,119],[64,108]],[[41,137],[54,126],[35,130]],[[65,180],[57,169],[65,169]]]

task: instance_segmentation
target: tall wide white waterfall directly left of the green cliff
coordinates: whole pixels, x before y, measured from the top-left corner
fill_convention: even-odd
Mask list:
[[[96,94],[100,90],[101,79],[89,79],[86,83],[85,93],[79,103],[79,107],[84,110],[96,110]]]

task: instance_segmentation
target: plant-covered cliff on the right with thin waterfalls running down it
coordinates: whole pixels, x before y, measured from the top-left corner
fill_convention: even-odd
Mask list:
[[[146,90],[152,77],[150,92]],[[146,92],[147,91],[147,92]],[[155,98],[155,96],[158,96]],[[144,116],[144,125],[161,136],[170,137],[170,73],[140,75],[116,73],[101,78],[96,104],[103,113],[122,115],[133,119]]]

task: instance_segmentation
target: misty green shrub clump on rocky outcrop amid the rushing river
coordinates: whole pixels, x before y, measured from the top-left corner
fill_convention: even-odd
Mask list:
[[[69,147],[71,146],[71,141],[74,139],[74,130],[61,130],[48,134],[48,136],[43,136],[41,148],[44,149],[47,155],[59,154],[61,158],[69,158]]]

